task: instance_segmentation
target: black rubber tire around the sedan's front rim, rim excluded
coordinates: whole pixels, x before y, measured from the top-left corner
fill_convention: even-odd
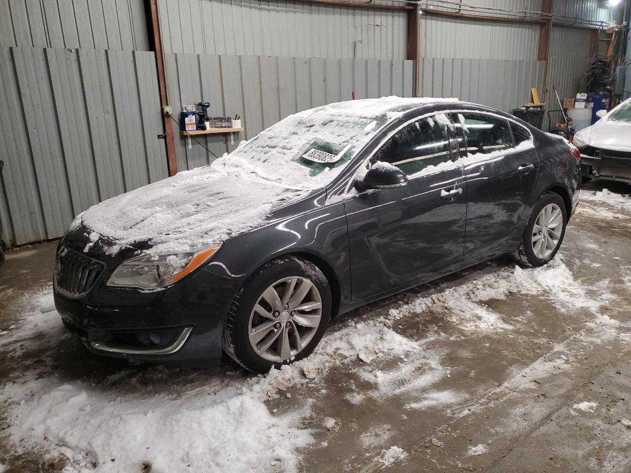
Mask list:
[[[306,277],[315,285],[322,300],[321,320],[313,338],[302,351],[290,359],[274,362],[259,356],[250,344],[250,316],[262,293],[274,282],[289,276]],[[246,370],[266,373],[272,366],[279,368],[309,356],[324,336],[330,319],[331,288],[322,271],[307,260],[292,256],[280,257],[257,269],[235,296],[223,330],[223,349]]]

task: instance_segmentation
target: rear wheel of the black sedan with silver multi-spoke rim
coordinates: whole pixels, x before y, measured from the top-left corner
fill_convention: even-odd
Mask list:
[[[543,266],[553,259],[563,242],[567,225],[565,202],[554,192],[546,192],[534,204],[521,245],[514,257],[524,266]]]

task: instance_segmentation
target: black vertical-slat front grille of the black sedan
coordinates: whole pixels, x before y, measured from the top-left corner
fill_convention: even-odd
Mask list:
[[[100,261],[61,247],[55,265],[55,287],[70,297],[85,296],[104,268],[105,265]]]

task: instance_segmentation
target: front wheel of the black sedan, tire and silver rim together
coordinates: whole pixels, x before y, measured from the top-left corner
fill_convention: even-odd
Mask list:
[[[265,373],[312,353],[330,318],[331,289],[322,271],[281,257],[258,269],[233,300],[223,346],[245,369]]]

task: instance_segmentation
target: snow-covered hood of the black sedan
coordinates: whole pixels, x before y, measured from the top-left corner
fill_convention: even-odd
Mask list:
[[[235,168],[204,166],[103,201],[73,225],[83,223],[93,243],[102,236],[114,241],[110,254],[143,242],[151,254],[175,254],[256,228],[274,208],[308,193]]]

